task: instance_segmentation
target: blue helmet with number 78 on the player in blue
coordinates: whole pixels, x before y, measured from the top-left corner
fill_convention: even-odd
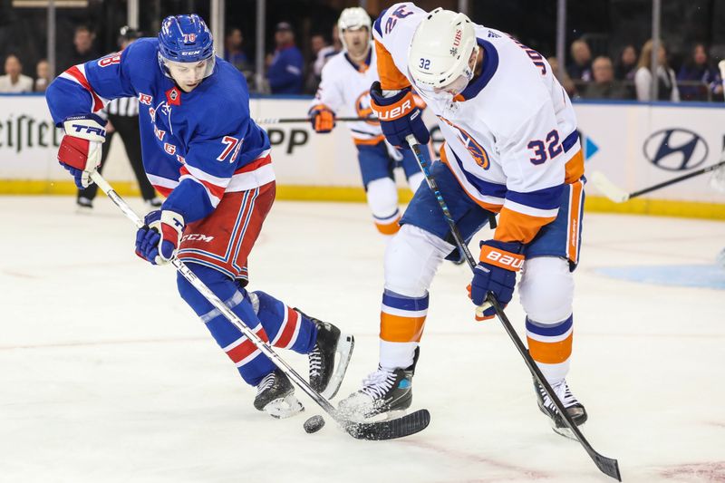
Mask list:
[[[214,71],[214,60],[214,39],[198,14],[170,15],[163,20],[159,31],[159,63],[168,77],[172,77],[169,64],[210,61],[203,74],[208,77]]]

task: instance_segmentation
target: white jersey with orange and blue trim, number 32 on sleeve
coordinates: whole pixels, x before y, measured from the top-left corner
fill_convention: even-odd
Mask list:
[[[427,14],[406,2],[375,21],[382,89],[415,87],[408,51]],[[497,30],[475,31],[484,55],[480,75],[452,101],[419,94],[446,140],[441,160],[470,198],[500,211],[495,237],[527,243],[556,218],[565,181],[584,174],[575,113],[541,54]]]

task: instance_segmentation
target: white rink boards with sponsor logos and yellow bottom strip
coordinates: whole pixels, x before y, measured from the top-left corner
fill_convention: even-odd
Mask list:
[[[256,119],[304,117],[309,98],[260,97],[251,102]],[[43,96],[0,96],[0,194],[69,194],[73,183],[55,161],[62,137]],[[575,103],[585,149],[586,169],[602,171],[626,191],[646,188],[717,162],[725,140],[720,104],[657,102]],[[340,113],[341,115],[354,115]],[[426,113],[436,149],[442,141]],[[278,197],[286,199],[364,199],[356,153],[349,130],[339,122],[330,134],[316,134],[308,123],[270,124]],[[121,194],[138,188],[121,142],[112,141],[106,170]],[[410,198],[402,188],[401,198]],[[710,186],[710,175],[614,204],[587,188],[586,208],[725,219],[725,193]]]

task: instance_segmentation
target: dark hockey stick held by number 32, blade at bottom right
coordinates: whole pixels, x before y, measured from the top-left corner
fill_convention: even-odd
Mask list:
[[[453,239],[456,241],[456,246],[458,246],[459,250],[465,254],[466,259],[469,262],[470,269],[474,270],[477,265],[476,260],[470,254],[469,247],[466,245],[466,241],[463,239],[463,237],[461,237],[459,228],[456,226],[456,221],[453,219],[453,217],[450,216],[450,211],[448,205],[446,204],[446,200],[440,193],[440,189],[438,188],[435,179],[430,175],[430,164],[422,155],[422,152],[420,150],[420,144],[418,144],[418,142],[412,135],[408,136],[406,140],[408,141],[408,144],[410,144],[411,150],[413,150],[413,152],[415,153],[416,159],[418,159],[418,164],[420,164],[420,169],[422,170],[423,176],[425,176],[425,179],[428,182],[430,190],[433,192],[433,195],[435,195],[436,199],[438,200],[440,209],[443,211],[443,217],[446,218],[446,222],[448,223],[448,226],[450,228],[450,233],[453,235]],[[528,353],[528,350],[526,346],[524,346],[524,343],[521,342],[521,339],[518,337],[516,330],[511,325],[511,322],[508,320],[508,317],[501,308],[501,305],[498,304],[498,300],[496,300],[496,297],[489,292],[486,298],[488,304],[491,304],[496,311],[498,320],[501,321],[504,329],[506,329],[506,332],[511,338],[511,341],[514,343],[514,345],[516,345],[518,353],[521,354],[521,357],[524,358],[524,362],[527,363],[528,370],[534,376],[536,382],[544,387],[544,389],[546,390],[546,394],[548,394],[549,396],[549,399],[554,402],[554,405],[556,406],[556,411],[559,411],[559,415],[562,416],[562,419],[565,421],[566,426],[569,428],[569,430],[572,431],[572,433],[574,433],[576,440],[579,440],[586,452],[589,454],[590,458],[594,460],[594,464],[596,465],[596,467],[605,475],[622,481],[619,473],[619,464],[617,463],[617,460],[607,458],[597,453],[594,448],[592,448],[592,445],[589,444],[589,442],[585,439],[579,428],[576,427],[571,416],[569,416],[569,413],[566,412],[564,404],[562,404],[561,400],[559,400],[559,397],[556,395],[556,392],[554,392],[554,390],[551,388],[551,385],[549,385],[549,383],[546,381],[544,374],[541,373],[541,370],[536,365],[536,362],[534,362],[534,360],[531,358],[531,354]]]

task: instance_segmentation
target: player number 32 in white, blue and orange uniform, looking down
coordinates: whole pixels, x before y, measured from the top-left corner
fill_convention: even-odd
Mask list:
[[[469,241],[492,212],[499,214],[493,238],[480,244],[469,285],[473,303],[490,292],[507,304],[523,266],[529,352],[582,424],[585,408],[565,382],[584,198],[584,159],[568,96],[539,53],[464,14],[396,4],[375,21],[373,35],[381,81],[371,88],[372,109],[387,139],[396,146],[411,134],[428,140],[412,107],[414,88],[446,140],[431,173],[462,236]],[[441,260],[455,252],[438,202],[420,189],[385,254],[379,368],[341,402],[343,409],[371,416],[410,406],[428,289]],[[562,430],[540,387],[536,396]]]

